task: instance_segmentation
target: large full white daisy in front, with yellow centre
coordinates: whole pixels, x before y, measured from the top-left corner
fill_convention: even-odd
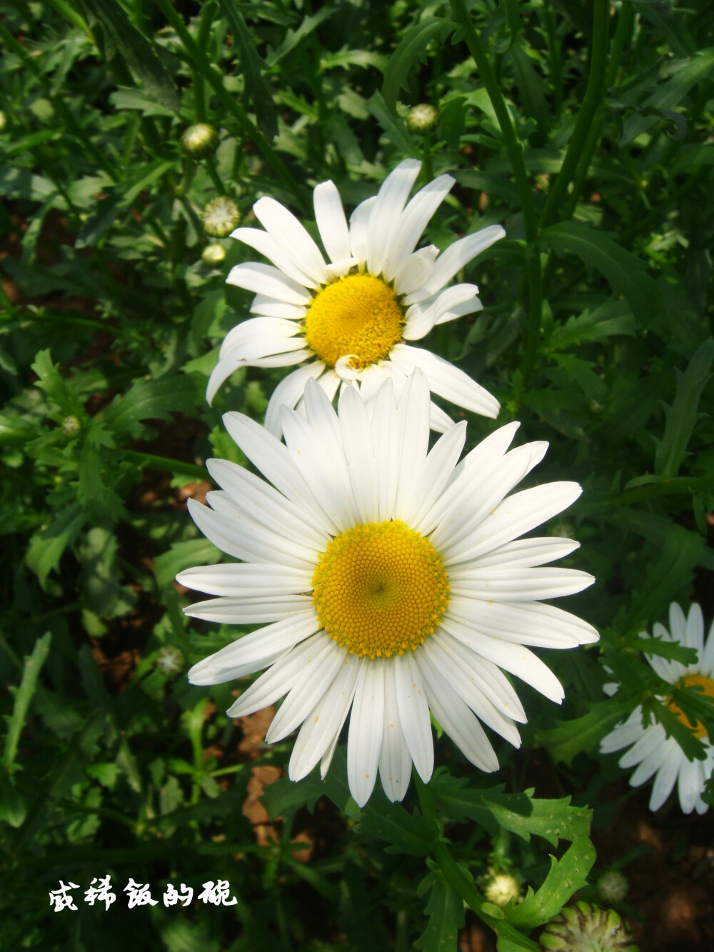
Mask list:
[[[574,502],[581,487],[548,483],[507,496],[547,446],[507,451],[517,423],[461,463],[464,422],[427,451],[421,371],[399,401],[387,380],[371,407],[346,387],[338,412],[308,381],[305,416],[281,409],[285,444],[240,413],[224,421],[269,483],[242,466],[208,461],[222,489],[208,493],[210,507],[189,500],[190,514],[214,545],[243,562],[189,568],[177,578],[219,596],[188,607],[193,618],[264,626],[195,664],[191,683],[268,667],[228,715],[287,695],[266,740],[300,728],[288,767],[296,781],[319,761],[325,777],[351,707],[348,782],[361,806],[378,770],[392,801],[404,797],[412,762],[429,780],[429,709],[472,764],[496,770],[481,722],[515,746],[514,722],[526,722],[504,671],[560,704],[561,684],[526,645],[569,648],[598,637],[540,601],[593,581],[574,569],[536,567],[578,543],[519,539]]]

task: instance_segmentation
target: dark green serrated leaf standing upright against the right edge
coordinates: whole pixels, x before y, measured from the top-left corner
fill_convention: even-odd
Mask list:
[[[714,339],[709,337],[689,361],[684,373],[677,371],[677,393],[672,406],[664,406],[664,436],[655,452],[655,472],[658,475],[672,477],[679,472],[698,419],[702,390],[711,376],[712,359]]]

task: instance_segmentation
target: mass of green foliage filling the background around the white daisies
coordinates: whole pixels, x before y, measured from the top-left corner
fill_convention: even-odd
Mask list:
[[[545,747],[576,803],[622,777],[608,758],[589,783],[588,756],[635,704],[702,756],[644,660],[691,654],[640,632],[671,601],[694,597],[714,617],[706,11],[705,0],[3,5],[0,678],[13,686],[0,697],[0,908],[12,947],[435,952],[455,947],[466,899],[504,952],[532,948],[527,933],[584,886],[594,853],[586,810],[521,792],[529,751]],[[406,121],[419,102],[439,109],[423,136]],[[201,161],[180,145],[196,122],[220,139]],[[572,610],[603,638],[548,658],[565,684],[560,722],[526,690],[523,751],[498,751],[510,792],[444,742],[452,769],[430,801],[375,793],[358,811],[338,754],[326,783],[267,788],[282,821],[261,833],[246,804],[289,744],[247,747],[248,725],[220,713],[230,685],[188,686],[188,664],[236,632],[187,625],[172,583],[220,558],[184,506],[207,456],[245,463],[220,413],[260,420],[280,378],[241,370],[205,404],[248,304],[225,276],[252,252],[222,239],[224,264],[205,264],[201,211],[226,195],[249,221],[270,194],[309,220],[317,182],[331,178],[351,207],[407,156],[423,160],[423,181],[457,182],[429,242],[506,227],[466,269],[485,310],[427,344],[497,394],[500,423],[550,442],[539,480],[585,486],[549,530],[583,541],[571,563],[598,584]],[[469,440],[491,427],[470,419]],[[613,699],[605,680],[623,685]],[[714,730],[701,695],[674,699]],[[525,901],[483,902],[489,868],[513,872]],[[51,911],[60,879],[86,889],[109,872],[154,895],[226,879],[240,902]]]

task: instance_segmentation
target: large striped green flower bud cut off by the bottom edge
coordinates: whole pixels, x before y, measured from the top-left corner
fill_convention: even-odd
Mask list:
[[[540,942],[554,952],[639,952],[615,910],[589,902],[562,909],[545,926]]]

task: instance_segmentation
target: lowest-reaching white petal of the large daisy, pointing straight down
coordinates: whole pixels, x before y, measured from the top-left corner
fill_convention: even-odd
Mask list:
[[[385,665],[370,662],[360,671],[349,717],[347,783],[358,806],[364,806],[377,780],[385,725]]]

